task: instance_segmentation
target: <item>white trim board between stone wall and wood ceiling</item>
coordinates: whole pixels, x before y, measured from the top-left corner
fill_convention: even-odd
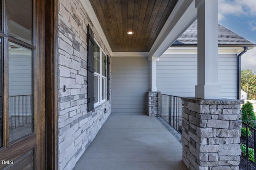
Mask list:
[[[108,43],[108,40],[104,34],[104,31],[100,25],[100,22],[98,21],[98,18],[92,8],[92,5],[89,0],[81,0],[81,3],[85,9],[86,14],[88,15],[88,19],[92,22],[94,28],[96,29],[97,33],[99,34],[101,40],[103,41],[104,45],[106,46],[108,52],[110,53],[110,56],[112,56],[112,50],[110,48],[110,45]]]

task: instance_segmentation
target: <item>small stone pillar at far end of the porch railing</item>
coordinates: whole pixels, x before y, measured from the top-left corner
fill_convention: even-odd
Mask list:
[[[161,93],[161,92],[148,92],[147,112],[149,116],[157,116],[157,112],[158,112],[157,94],[158,93]]]

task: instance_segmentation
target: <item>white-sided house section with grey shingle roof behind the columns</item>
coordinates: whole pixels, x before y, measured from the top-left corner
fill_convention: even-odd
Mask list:
[[[218,25],[218,81],[221,97],[237,99],[238,55],[252,43]],[[197,21],[157,61],[157,89],[164,94],[195,97],[197,84]],[[240,92],[240,91],[239,91]]]

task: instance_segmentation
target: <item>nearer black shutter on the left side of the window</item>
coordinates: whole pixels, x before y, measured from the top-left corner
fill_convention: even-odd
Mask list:
[[[92,109],[94,108],[94,96],[93,96],[93,74],[94,74],[94,68],[93,68],[93,50],[94,50],[94,39],[93,39],[93,32],[92,29],[90,27],[90,25],[88,25],[88,47],[87,47],[87,51],[88,51],[88,61],[87,61],[87,103],[88,103],[88,112],[92,111]]]

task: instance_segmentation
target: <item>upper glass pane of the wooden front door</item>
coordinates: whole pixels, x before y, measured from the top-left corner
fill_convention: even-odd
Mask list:
[[[32,44],[32,0],[7,0],[8,33]]]

